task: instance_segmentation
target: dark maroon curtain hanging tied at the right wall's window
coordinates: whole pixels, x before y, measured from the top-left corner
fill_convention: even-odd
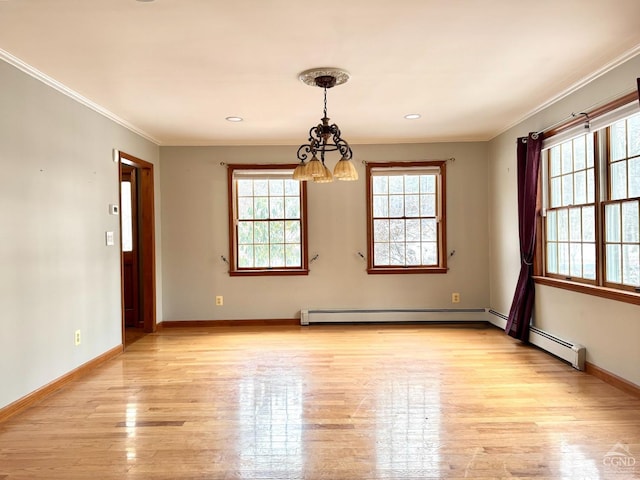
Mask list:
[[[530,133],[518,138],[518,224],[520,233],[520,275],[513,295],[505,332],[529,342],[529,325],[535,299],[533,254],[536,246],[536,205],[542,135]]]

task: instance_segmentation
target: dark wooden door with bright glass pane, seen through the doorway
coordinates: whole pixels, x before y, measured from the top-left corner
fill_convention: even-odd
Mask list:
[[[125,327],[140,327],[140,281],[138,241],[138,186],[135,167],[122,165],[120,205],[122,232],[122,280]]]

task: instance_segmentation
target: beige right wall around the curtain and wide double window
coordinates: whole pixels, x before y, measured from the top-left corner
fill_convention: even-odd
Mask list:
[[[520,269],[516,138],[540,131],[636,88],[640,56],[600,76],[489,142],[491,307],[509,312]],[[640,385],[640,307],[536,286],[534,323],[587,348],[587,361]]]

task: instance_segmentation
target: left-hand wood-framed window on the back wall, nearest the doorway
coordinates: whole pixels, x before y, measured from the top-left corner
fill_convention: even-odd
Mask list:
[[[295,165],[229,165],[231,275],[306,275],[306,184]]]

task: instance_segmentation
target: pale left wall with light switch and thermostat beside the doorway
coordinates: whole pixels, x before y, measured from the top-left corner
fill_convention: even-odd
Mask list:
[[[122,343],[112,149],[158,147],[2,61],[0,112],[1,408]]]

